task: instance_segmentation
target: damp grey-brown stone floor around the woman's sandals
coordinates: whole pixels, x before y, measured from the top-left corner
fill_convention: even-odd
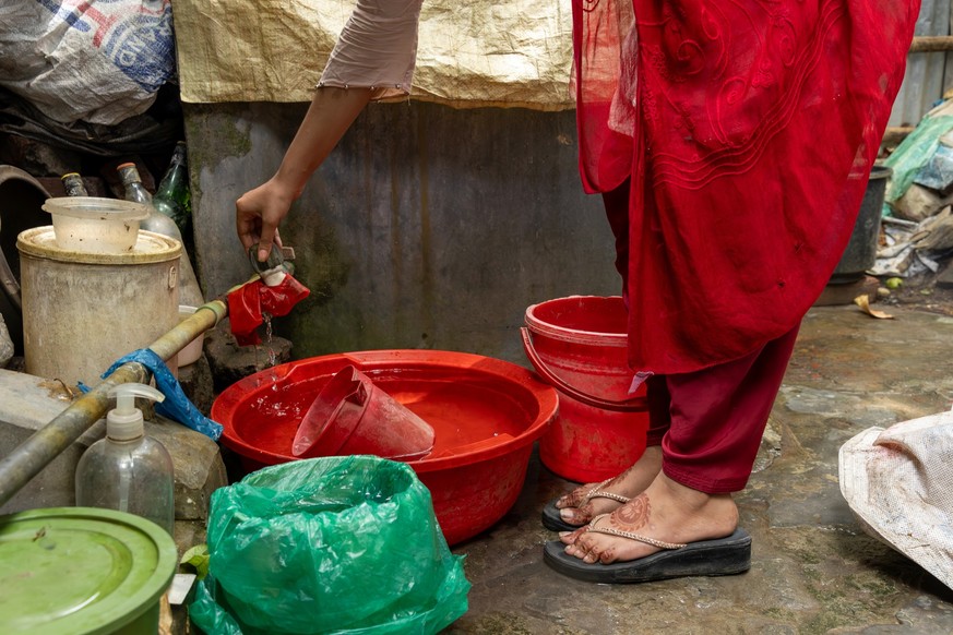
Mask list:
[[[755,472],[736,500],[751,571],[593,585],[543,562],[539,514],[565,481],[535,457],[525,488],[466,554],[469,611],[445,633],[953,633],[953,591],[863,534],[837,481],[841,445],[867,428],[949,409],[953,317],[901,307],[877,320],[815,308],[772,411]]]

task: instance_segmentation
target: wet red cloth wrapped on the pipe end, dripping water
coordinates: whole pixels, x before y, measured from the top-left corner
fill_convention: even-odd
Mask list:
[[[277,317],[287,315],[310,292],[293,276],[286,275],[274,287],[258,279],[228,293],[228,320],[238,345],[261,344],[261,337],[255,330],[264,322],[262,314]]]

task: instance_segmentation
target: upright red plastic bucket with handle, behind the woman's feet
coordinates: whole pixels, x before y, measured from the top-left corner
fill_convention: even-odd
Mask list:
[[[543,464],[562,478],[597,482],[642,456],[645,387],[629,394],[627,310],[619,296],[571,296],[526,309],[526,356],[559,392],[559,414],[539,440]]]

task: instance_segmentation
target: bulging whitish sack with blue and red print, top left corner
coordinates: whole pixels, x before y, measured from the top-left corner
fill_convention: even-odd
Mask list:
[[[0,2],[0,86],[60,123],[118,125],[176,74],[160,0]]]

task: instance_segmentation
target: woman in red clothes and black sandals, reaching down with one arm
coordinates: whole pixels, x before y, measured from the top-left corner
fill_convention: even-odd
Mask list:
[[[278,171],[236,204],[246,248],[267,253],[380,86],[408,88],[419,1],[361,0],[356,15],[369,5],[396,17],[348,23]],[[573,0],[580,171],[616,235],[650,432],[623,475],[547,505],[544,524],[561,531],[544,550],[556,570],[641,582],[750,566],[731,493],[750,476],[800,320],[851,233],[918,10]]]

